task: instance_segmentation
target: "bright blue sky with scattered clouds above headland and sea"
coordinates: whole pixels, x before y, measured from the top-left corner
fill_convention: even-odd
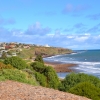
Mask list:
[[[0,0],[0,42],[100,49],[100,0]]]

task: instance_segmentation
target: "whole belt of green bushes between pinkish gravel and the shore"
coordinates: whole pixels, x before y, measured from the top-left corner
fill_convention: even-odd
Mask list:
[[[42,52],[44,51],[43,49]],[[83,73],[71,73],[65,79],[59,80],[55,70],[44,64],[41,55],[37,55],[35,62],[30,65],[19,57],[0,60],[0,81],[3,80],[15,80],[32,85],[39,83],[44,87],[67,91],[92,100],[100,99],[99,78]]]

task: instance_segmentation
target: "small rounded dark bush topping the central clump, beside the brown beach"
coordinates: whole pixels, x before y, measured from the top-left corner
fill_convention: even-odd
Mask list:
[[[41,62],[33,62],[31,63],[31,67],[36,71],[43,73],[45,70],[45,65]]]

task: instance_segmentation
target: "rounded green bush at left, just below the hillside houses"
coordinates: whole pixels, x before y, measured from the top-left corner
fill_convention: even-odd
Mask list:
[[[24,69],[27,67],[27,64],[24,60],[19,57],[10,57],[4,60],[5,64],[10,64],[17,69]]]

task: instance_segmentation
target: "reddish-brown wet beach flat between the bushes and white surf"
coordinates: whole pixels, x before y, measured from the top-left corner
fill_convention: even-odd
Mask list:
[[[77,66],[77,64],[62,64],[60,62],[45,62],[46,65],[52,66],[56,72],[74,72],[74,70],[71,67]],[[71,69],[70,69],[71,68]]]

